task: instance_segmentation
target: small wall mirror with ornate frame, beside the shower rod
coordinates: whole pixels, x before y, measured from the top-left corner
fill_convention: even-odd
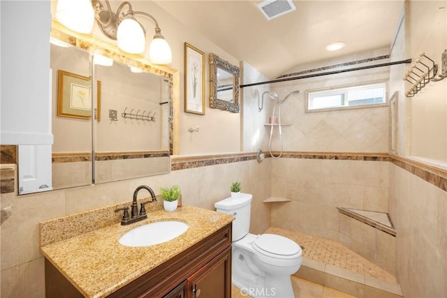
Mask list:
[[[239,67],[210,53],[210,107],[238,113]]]

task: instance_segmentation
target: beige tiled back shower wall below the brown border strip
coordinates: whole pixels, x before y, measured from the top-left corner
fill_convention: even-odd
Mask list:
[[[323,157],[323,156],[322,156]],[[388,162],[280,158],[272,163],[272,225],[339,239],[336,207],[388,212]]]

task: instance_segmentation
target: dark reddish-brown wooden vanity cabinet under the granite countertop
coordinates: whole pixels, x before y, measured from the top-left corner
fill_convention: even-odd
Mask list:
[[[45,259],[47,298],[83,297]],[[231,223],[108,297],[230,298]]]

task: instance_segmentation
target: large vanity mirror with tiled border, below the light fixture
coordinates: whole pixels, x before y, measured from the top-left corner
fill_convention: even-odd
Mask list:
[[[51,35],[69,45],[51,45],[53,189],[168,173],[177,70],[124,56],[54,20]],[[93,100],[83,107],[85,98]]]

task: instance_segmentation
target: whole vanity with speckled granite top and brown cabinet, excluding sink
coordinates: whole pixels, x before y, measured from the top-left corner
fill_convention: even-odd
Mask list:
[[[189,228],[170,241],[144,247],[117,241],[138,225],[173,219]],[[41,246],[46,297],[230,297],[233,219],[183,206],[151,212],[135,225],[116,223]],[[44,237],[52,230],[45,224]]]

